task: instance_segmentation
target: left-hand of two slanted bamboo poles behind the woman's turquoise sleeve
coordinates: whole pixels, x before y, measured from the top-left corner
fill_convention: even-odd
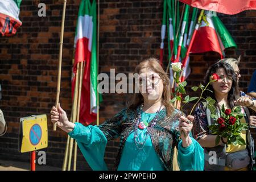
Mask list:
[[[79,88],[79,86],[78,86],[78,84],[79,84],[79,79],[78,79],[78,77],[79,77],[79,71],[80,71],[80,63],[78,63],[77,64],[77,71],[76,71],[76,86],[75,86],[75,88],[76,88],[76,92],[75,92],[75,94],[74,94],[74,104],[73,104],[73,117],[72,117],[72,122],[74,123],[74,122],[76,122],[76,117],[77,117],[77,115],[75,114],[75,113],[77,113],[77,97],[78,97],[78,88]],[[68,156],[68,171],[70,171],[70,169],[71,169],[71,160],[72,160],[72,152],[73,152],[73,143],[74,143],[74,139],[73,138],[71,138],[70,139],[70,143],[69,143],[69,156]]]

